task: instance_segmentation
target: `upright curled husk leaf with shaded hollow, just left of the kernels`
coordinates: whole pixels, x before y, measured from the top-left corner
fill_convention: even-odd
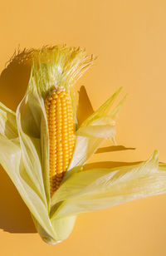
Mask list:
[[[32,94],[27,94],[17,107],[17,130],[22,160],[34,190],[47,205],[41,166],[40,128],[41,110],[37,99]]]

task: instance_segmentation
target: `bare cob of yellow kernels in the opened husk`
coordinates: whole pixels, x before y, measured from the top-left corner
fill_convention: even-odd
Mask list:
[[[75,146],[75,127],[70,96],[65,89],[51,91],[45,101],[50,144],[50,193],[59,188]]]

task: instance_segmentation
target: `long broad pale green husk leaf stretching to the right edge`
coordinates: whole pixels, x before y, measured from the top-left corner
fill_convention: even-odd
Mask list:
[[[130,200],[166,192],[166,167],[159,152],[139,165],[85,170],[66,180],[52,205],[62,202],[52,219],[105,209]]]

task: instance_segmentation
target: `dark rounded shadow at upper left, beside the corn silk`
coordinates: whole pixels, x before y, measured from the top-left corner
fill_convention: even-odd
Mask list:
[[[18,49],[0,75],[0,101],[12,111],[16,111],[27,90],[33,53],[33,49]]]

